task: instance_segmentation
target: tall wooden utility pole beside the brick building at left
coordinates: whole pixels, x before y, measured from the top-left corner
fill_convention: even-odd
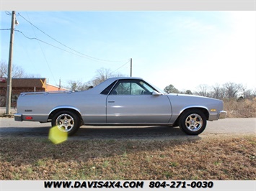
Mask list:
[[[6,93],[6,114],[11,113],[11,100],[12,100],[12,48],[14,42],[14,24],[15,24],[15,11],[12,11],[12,25],[10,35],[9,47],[9,63],[8,63],[8,77],[7,77],[7,93]]]

